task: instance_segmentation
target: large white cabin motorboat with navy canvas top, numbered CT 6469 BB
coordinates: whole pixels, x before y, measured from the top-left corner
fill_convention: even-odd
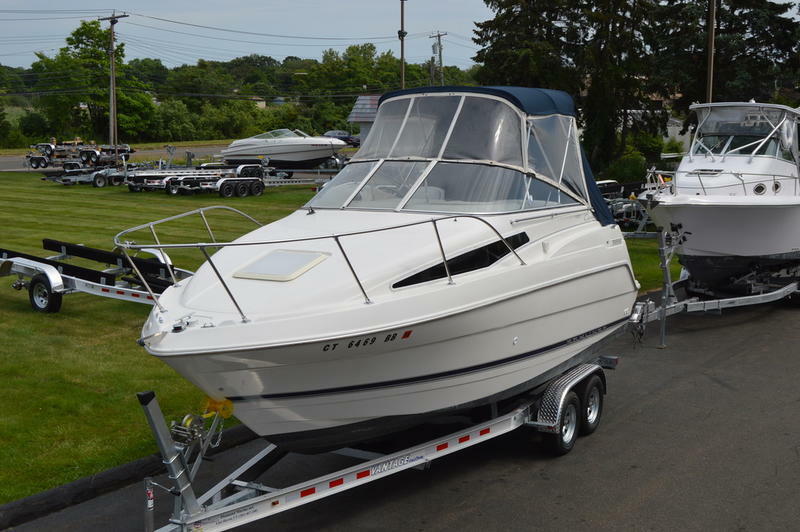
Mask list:
[[[141,248],[142,229],[158,222],[116,242]],[[293,450],[533,389],[623,327],[638,289],[572,100],[543,89],[386,94],[304,208],[231,243],[146,247],[208,260],[140,343]]]

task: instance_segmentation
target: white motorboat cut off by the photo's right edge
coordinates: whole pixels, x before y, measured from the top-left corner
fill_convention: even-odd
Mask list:
[[[681,264],[701,287],[800,264],[800,112],[755,102],[708,103],[671,182],[644,198],[656,225],[678,230]]]

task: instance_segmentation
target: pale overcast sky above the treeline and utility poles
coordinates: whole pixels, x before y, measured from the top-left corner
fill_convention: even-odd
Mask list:
[[[128,5],[98,0],[3,0],[0,63],[28,67],[35,60],[34,51],[54,54],[81,19],[107,16],[112,8],[131,14],[117,24],[118,40],[126,43],[128,60],[154,57],[173,67],[194,64],[198,58],[228,60],[251,53],[279,60],[288,55],[319,59],[327,48],[344,50],[349,44],[364,42],[400,56],[399,0],[140,0]],[[471,42],[474,22],[492,17],[482,0],[408,0],[405,12],[407,61],[427,60],[433,43],[429,35],[440,30],[448,32],[443,38],[444,63],[461,68],[473,64],[470,58],[477,50]]]

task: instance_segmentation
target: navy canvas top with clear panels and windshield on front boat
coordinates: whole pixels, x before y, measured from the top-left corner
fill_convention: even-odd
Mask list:
[[[569,204],[613,223],[567,93],[425,87],[381,98],[361,149],[307,206],[499,214]]]

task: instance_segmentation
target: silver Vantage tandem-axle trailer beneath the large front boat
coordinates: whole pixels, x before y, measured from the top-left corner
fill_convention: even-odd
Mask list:
[[[209,401],[203,415],[186,416],[181,423],[173,422],[167,427],[155,394],[140,393],[139,402],[158,443],[171,484],[162,486],[150,478],[145,479],[145,530],[154,530],[157,489],[173,497],[172,517],[160,531],[210,532],[263,519],[400,471],[427,469],[437,458],[520,427],[544,432],[552,451],[556,455],[566,454],[579,434],[591,434],[599,426],[606,393],[603,368],[613,369],[616,364],[617,357],[598,357],[596,347],[589,348],[556,368],[549,380],[535,390],[503,405],[492,405],[491,414],[476,419],[476,424],[470,427],[388,454],[341,449],[335,452],[364,462],[286,488],[256,482],[285,455],[275,445],[264,442],[263,449],[202,495],[195,493],[193,482],[206,451],[219,442],[222,418],[232,414],[230,402]]]

